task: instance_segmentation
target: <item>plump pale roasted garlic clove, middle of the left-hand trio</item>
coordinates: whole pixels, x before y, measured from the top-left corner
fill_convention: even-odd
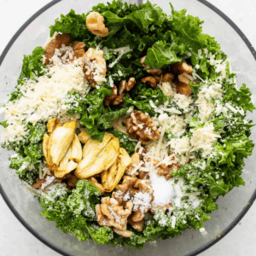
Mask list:
[[[51,158],[53,165],[59,166],[67,149],[73,142],[75,136],[76,121],[66,123],[63,126],[56,127],[49,137],[48,157]]]

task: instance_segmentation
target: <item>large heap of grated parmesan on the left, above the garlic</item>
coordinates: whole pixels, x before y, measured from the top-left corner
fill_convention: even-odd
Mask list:
[[[23,96],[19,100],[6,104],[3,112],[8,126],[3,129],[2,143],[26,136],[24,120],[35,125],[39,120],[47,121],[54,117],[79,118],[78,115],[66,114],[67,106],[63,104],[63,99],[68,91],[84,95],[89,87],[80,67],[81,59],[65,65],[59,58],[53,61],[54,66],[49,67],[44,76],[38,77],[37,81],[29,79],[26,84],[20,85]]]

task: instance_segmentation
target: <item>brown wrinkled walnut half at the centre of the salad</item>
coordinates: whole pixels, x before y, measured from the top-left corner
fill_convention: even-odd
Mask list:
[[[160,137],[160,132],[154,125],[154,120],[141,111],[133,111],[131,118],[126,120],[127,134],[132,139],[138,139],[143,144],[154,141]]]

